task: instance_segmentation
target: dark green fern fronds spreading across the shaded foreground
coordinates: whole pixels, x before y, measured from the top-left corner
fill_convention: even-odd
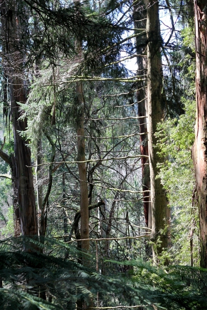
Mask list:
[[[0,243],[0,309],[73,309],[77,299],[86,307],[142,306],[146,309],[201,310],[207,302],[206,270],[173,266],[152,267],[141,260],[118,263],[128,273],[103,276],[94,272],[96,259],[77,248],[46,238],[7,239]],[[23,251],[26,246],[29,251]],[[65,256],[67,254],[67,256]],[[77,263],[83,257],[87,267]],[[110,261],[114,266],[117,262]],[[40,297],[52,297],[48,302]],[[98,296],[98,297],[97,297]],[[90,306],[89,306],[90,307]]]

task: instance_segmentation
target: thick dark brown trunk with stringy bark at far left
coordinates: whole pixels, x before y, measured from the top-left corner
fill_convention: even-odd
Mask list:
[[[14,178],[17,189],[17,199],[19,205],[19,215],[21,232],[23,236],[37,235],[37,214],[34,196],[34,184],[32,175],[31,153],[20,132],[25,131],[27,120],[18,120],[20,117],[20,106],[18,102],[26,102],[26,87],[24,74],[22,72],[22,60],[16,49],[18,38],[20,37],[21,25],[16,16],[16,2],[12,2],[11,7],[6,6],[5,1],[1,1],[2,33],[3,42],[6,46],[2,47],[6,57],[3,59],[7,82],[9,83],[11,121],[14,134]],[[8,59],[9,61],[7,62]]]

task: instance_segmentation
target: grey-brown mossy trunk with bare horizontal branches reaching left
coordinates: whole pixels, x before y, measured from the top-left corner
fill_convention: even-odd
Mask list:
[[[159,170],[157,164],[164,161],[157,154],[157,139],[155,138],[156,126],[163,117],[161,107],[162,73],[161,54],[162,43],[159,22],[159,2],[148,1],[147,8],[147,74],[148,74],[148,144],[149,144],[149,164],[151,179],[151,207],[152,207],[152,232],[153,241],[152,252],[154,263],[157,263],[157,256],[166,248],[167,233],[160,232],[165,228],[167,200],[163,186],[159,178],[156,178]]]

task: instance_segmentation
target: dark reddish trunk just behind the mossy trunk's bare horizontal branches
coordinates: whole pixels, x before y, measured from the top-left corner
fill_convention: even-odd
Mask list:
[[[143,1],[143,6],[145,6],[145,3]],[[134,28],[136,29],[144,29],[146,28],[146,10],[140,10],[140,3],[138,5],[134,6]],[[136,50],[137,55],[146,54],[146,37],[144,36],[142,38],[142,41],[140,41],[140,38],[136,38]],[[138,72],[137,74],[143,75],[146,74],[147,71],[147,59],[146,57],[137,56],[137,66],[138,66]],[[137,88],[139,89],[137,91],[137,102],[138,102],[138,116],[142,117],[139,119],[139,131],[140,133],[145,133],[148,131],[148,118],[144,117],[147,116],[148,111],[148,101],[147,101],[147,83],[140,82],[137,84]],[[140,153],[141,155],[147,155],[148,156],[148,137],[146,135],[140,135]],[[145,216],[145,223],[148,227],[148,220],[149,220],[149,207],[151,207],[151,204],[149,205],[150,201],[150,192],[146,192],[147,189],[150,190],[150,170],[149,170],[149,161],[147,157],[142,157],[142,189],[145,193],[143,193],[143,206],[144,206],[144,216]],[[151,213],[151,210],[150,210]]]

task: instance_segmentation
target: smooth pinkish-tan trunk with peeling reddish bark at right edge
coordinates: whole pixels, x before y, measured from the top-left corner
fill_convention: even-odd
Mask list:
[[[200,266],[207,268],[207,31],[206,1],[195,1],[196,138],[192,147],[200,219]]]

